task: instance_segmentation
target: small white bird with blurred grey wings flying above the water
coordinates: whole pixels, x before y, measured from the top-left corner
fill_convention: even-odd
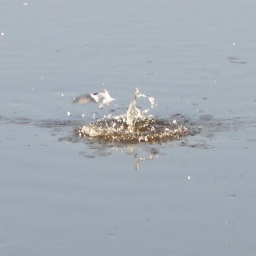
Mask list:
[[[116,99],[111,98],[107,90],[104,90],[102,92],[96,92],[93,94],[89,93],[73,98],[74,103],[87,104],[89,102],[95,102],[99,103],[100,108],[102,108],[103,106],[108,106],[109,103],[113,100]]]

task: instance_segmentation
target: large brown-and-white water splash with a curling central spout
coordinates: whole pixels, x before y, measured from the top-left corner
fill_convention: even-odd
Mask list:
[[[140,97],[148,98],[150,108],[156,106],[154,97],[140,93],[135,89],[134,99],[124,114],[99,118],[96,122],[83,125],[75,130],[78,137],[87,137],[91,140],[122,143],[165,143],[188,135],[187,129],[176,120],[168,121],[157,119],[153,115],[145,115],[150,108],[140,110],[137,100]]]

